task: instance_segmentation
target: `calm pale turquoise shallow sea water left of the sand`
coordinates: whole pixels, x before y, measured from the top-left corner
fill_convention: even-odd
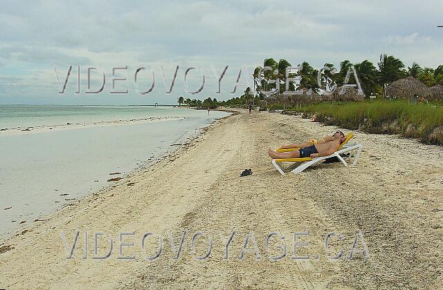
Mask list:
[[[0,131],[0,237],[148,166],[228,113],[140,106],[0,106],[0,128],[161,118],[113,126]],[[181,119],[165,119],[181,117]],[[120,172],[118,175],[109,173]],[[10,208],[10,209],[8,209]],[[5,210],[7,209],[7,210]],[[23,224],[19,224],[26,221]]]

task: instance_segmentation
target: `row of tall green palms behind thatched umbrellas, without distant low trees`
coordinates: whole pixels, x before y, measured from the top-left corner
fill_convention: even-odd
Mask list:
[[[257,94],[260,95],[260,99],[266,99],[266,96],[262,95],[260,90],[269,91],[276,89],[276,85],[269,84],[269,81],[272,83],[277,78],[283,81],[283,83],[280,84],[279,93],[285,90],[284,81],[286,81],[286,77],[284,74],[286,68],[291,66],[291,64],[286,59],[275,61],[273,58],[268,58],[263,61],[263,67],[265,66],[269,66],[272,70],[265,70],[262,73],[261,81],[259,80],[259,74],[262,67],[257,66],[253,72],[254,86]],[[354,66],[356,74],[359,77],[361,88],[367,97],[370,95],[384,96],[384,89],[387,86],[398,79],[403,79],[408,76],[415,77],[415,79],[422,81],[422,83],[428,87],[435,86],[436,84],[443,86],[443,64],[433,69],[422,68],[414,62],[413,66],[406,68],[403,61],[392,55],[380,55],[377,68],[371,61],[368,61],[368,59],[354,64],[345,59],[341,61],[340,68],[335,68],[334,64],[324,64],[324,66],[329,68],[329,71],[326,70],[322,79],[320,79],[322,88],[329,89],[334,85],[343,86],[343,84],[346,83],[347,72]],[[272,73],[272,71],[276,69],[278,69],[278,75]],[[296,74],[291,74],[289,77],[302,77],[300,88],[312,89],[318,92],[317,75],[318,70],[312,68],[307,61],[304,61],[302,62],[302,70],[299,70]],[[355,84],[354,74],[350,73],[347,84]],[[293,90],[293,85],[289,86],[289,90]]]

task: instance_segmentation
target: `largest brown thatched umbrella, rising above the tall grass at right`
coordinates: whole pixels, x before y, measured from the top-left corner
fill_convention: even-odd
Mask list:
[[[385,90],[386,95],[390,97],[397,97],[399,99],[412,99],[414,95],[419,97],[425,97],[428,99],[431,97],[431,90],[422,83],[415,79],[414,77],[406,77],[404,79],[399,79],[394,81]]]

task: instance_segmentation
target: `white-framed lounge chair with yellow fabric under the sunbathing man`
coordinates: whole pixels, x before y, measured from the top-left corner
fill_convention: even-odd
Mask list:
[[[356,143],[352,143],[350,142],[350,139],[352,139],[354,137],[353,133],[349,133],[346,135],[346,139],[345,142],[343,142],[340,147],[338,147],[337,151],[335,151],[333,154],[328,155],[328,156],[322,156],[322,157],[315,157],[315,158],[311,158],[311,157],[304,157],[304,158],[280,158],[280,159],[273,159],[272,160],[272,164],[275,166],[275,168],[277,168],[278,172],[280,172],[282,175],[286,174],[282,168],[282,166],[280,166],[280,164],[282,162],[290,162],[293,163],[292,167],[294,165],[298,165],[295,168],[293,168],[291,171],[291,173],[300,173],[302,171],[304,171],[306,168],[308,168],[309,166],[316,164],[317,162],[320,162],[322,160],[325,160],[327,158],[330,157],[337,157],[338,160],[340,160],[341,162],[343,162],[343,164],[345,166],[347,166],[347,160],[350,160],[351,157],[354,157],[354,162],[352,162],[351,166],[354,166],[357,161],[359,160],[359,157],[361,155],[361,150],[363,149],[363,146],[361,144],[356,144]],[[294,151],[294,150],[298,150],[299,148],[290,148],[290,149],[280,149],[278,150],[278,152],[289,152],[289,151]],[[354,155],[356,151],[356,154]],[[344,153],[350,153],[350,155],[348,157],[343,158],[341,156],[341,154]]]

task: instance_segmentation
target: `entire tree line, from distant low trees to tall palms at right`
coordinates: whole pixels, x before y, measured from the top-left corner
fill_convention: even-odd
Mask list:
[[[318,86],[318,70],[313,68],[307,61],[299,64],[302,68],[297,72],[289,74],[289,77],[301,77],[298,89],[311,89],[320,92]],[[437,68],[428,68],[419,66],[413,62],[412,66],[406,67],[404,62],[392,55],[380,55],[377,67],[368,59],[352,64],[349,60],[341,61],[340,67],[336,68],[334,64],[324,64],[325,70],[320,79],[322,89],[332,88],[333,86],[343,86],[343,84],[355,84],[354,74],[352,73],[352,66],[355,68],[357,77],[359,78],[363,93],[369,97],[370,95],[385,95],[385,89],[392,82],[405,77],[415,77],[422,81],[428,87],[440,84],[443,86],[443,64]],[[262,70],[264,67],[271,68],[270,70]],[[266,99],[266,95],[260,92],[275,90],[275,93],[283,93],[286,90],[286,69],[292,67],[291,63],[286,59],[279,59],[276,61],[273,58],[266,58],[263,61],[263,66],[257,66],[253,71],[253,86],[256,94],[251,94],[251,88],[246,88],[244,94],[239,97],[233,97],[226,101],[217,101],[210,97],[200,101],[199,99],[184,99],[179,97],[178,103],[186,104],[192,107],[215,108],[217,106],[241,106],[249,103],[259,104],[260,100]],[[278,70],[278,74],[274,71]],[[350,72],[350,73],[349,73]],[[349,73],[349,79],[346,82],[346,77]],[[280,79],[277,84],[277,79]],[[278,86],[278,88],[277,88]],[[296,90],[293,82],[288,84],[289,90]]]

